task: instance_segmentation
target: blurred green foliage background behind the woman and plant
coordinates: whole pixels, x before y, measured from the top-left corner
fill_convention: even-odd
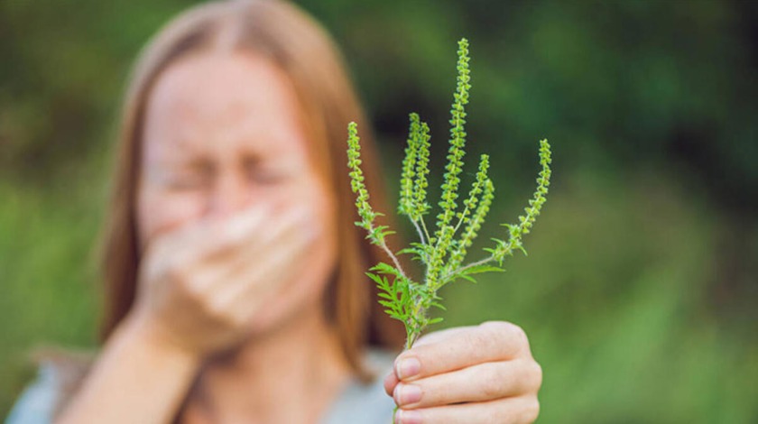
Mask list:
[[[33,348],[95,344],[92,245],[125,79],[192,3],[0,0],[0,417]],[[495,163],[485,231],[520,212],[550,139],[529,258],[444,293],[446,325],[526,329],[540,422],[758,422],[758,2],[300,5],[344,48],[390,187],[410,111],[441,169],[463,36],[467,158]]]

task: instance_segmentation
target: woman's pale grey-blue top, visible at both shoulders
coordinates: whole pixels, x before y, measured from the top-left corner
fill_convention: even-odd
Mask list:
[[[321,424],[389,424],[392,422],[394,401],[384,392],[383,377],[390,373],[394,356],[385,351],[370,351],[366,364],[377,378],[363,384],[356,379],[347,386],[331,406]],[[51,424],[58,401],[60,378],[53,364],[42,364],[37,379],[16,401],[5,424]]]

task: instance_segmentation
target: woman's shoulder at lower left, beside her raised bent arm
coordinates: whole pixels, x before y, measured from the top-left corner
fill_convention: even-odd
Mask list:
[[[37,377],[21,393],[5,424],[51,423],[79,389],[90,363],[90,355],[43,355]]]

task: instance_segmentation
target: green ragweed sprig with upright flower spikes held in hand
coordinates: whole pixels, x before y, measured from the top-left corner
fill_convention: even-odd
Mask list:
[[[466,154],[466,105],[468,103],[469,68],[468,41],[458,41],[458,84],[453,95],[450,118],[450,139],[448,164],[445,167],[442,194],[439,200],[439,213],[434,232],[429,231],[426,219],[431,212],[427,200],[429,182],[430,131],[429,125],[421,122],[417,114],[411,114],[408,146],[402,161],[400,183],[400,202],[398,212],[408,217],[419,235],[419,241],[402,249],[397,254],[412,254],[414,259],[424,264],[423,281],[412,281],[403,271],[395,253],[386,244],[386,237],[392,235],[387,226],[374,223],[379,212],[369,204],[369,194],[365,188],[363,171],[361,171],[360,138],[356,123],[347,126],[347,166],[353,192],[356,193],[356,208],[361,226],[367,232],[372,244],[380,246],[391,263],[378,263],[371,272],[366,272],[380,289],[379,303],[392,318],[402,321],[407,334],[405,348],[410,349],[421,336],[424,329],[437,323],[442,318],[430,317],[431,308],[445,309],[440,303],[439,289],[458,279],[475,281],[473,275],[481,272],[503,271],[506,256],[513,256],[516,251],[526,254],[522,244],[524,235],[529,234],[534,221],[540,215],[545,203],[545,195],[550,186],[550,143],[540,142],[541,171],[537,179],[537,189],[524,208],[524,214],[518,217],[516,224],[502,224],[507,229],[507,238],[493,238],[495,245],[485,248],[487,255],[476,262],[465,263],[467,249],[471,247],[478,235],[485,217],[495,198],[495,186],[487,175],[489,156],[483,154],[479,159],[476,180],[468,192],[468,197],[458,205],[460,173],[463,171],[463,157]]]

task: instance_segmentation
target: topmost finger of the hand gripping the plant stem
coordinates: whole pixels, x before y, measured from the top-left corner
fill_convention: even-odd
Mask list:
[[[430,337],[397,357],[394,373],[402,382],[448,373],[475,364],[504,361],[528,355],[529,342],[521,327],[502,321],[448,331],[447,337]]]

